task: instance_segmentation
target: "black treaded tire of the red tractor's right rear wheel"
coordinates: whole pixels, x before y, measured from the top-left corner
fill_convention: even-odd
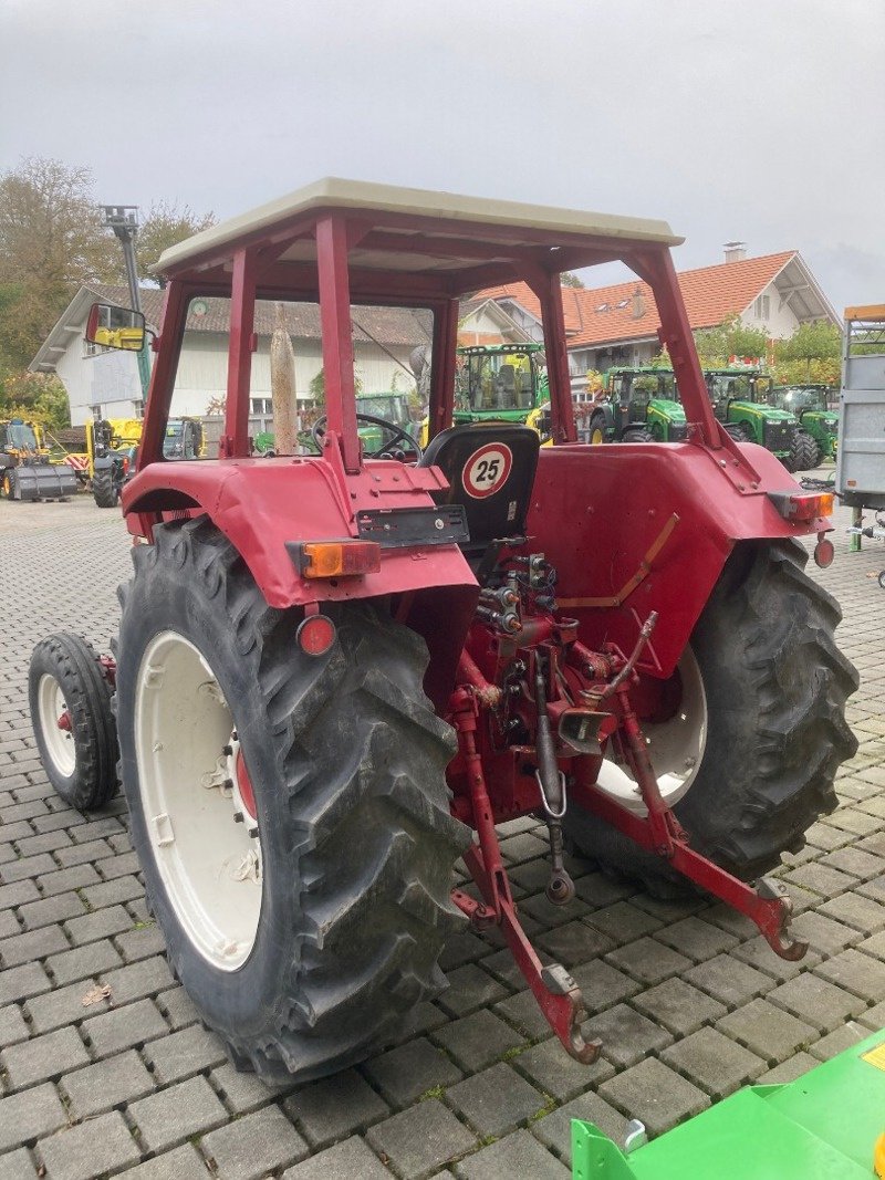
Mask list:
[[[802,847],[806,830],[835,807],[835,772],[857,749],[845,702],[858,675],[833,638],[841,612],[804,572],[806,560],[793,540],[735,548],[689,644],[706,714],[694,723],[697,748],[681,748],[670,732],[686,713],[690,720],[684,704],[658,736],[649,730],[653,763],[657,742],[687,766],[696,759],[688,789],[676,791],[673,804],[691,846],[743,880]],[[651,892],[690,889],[586,812],[571,807],[565,826],[578,851]]]

